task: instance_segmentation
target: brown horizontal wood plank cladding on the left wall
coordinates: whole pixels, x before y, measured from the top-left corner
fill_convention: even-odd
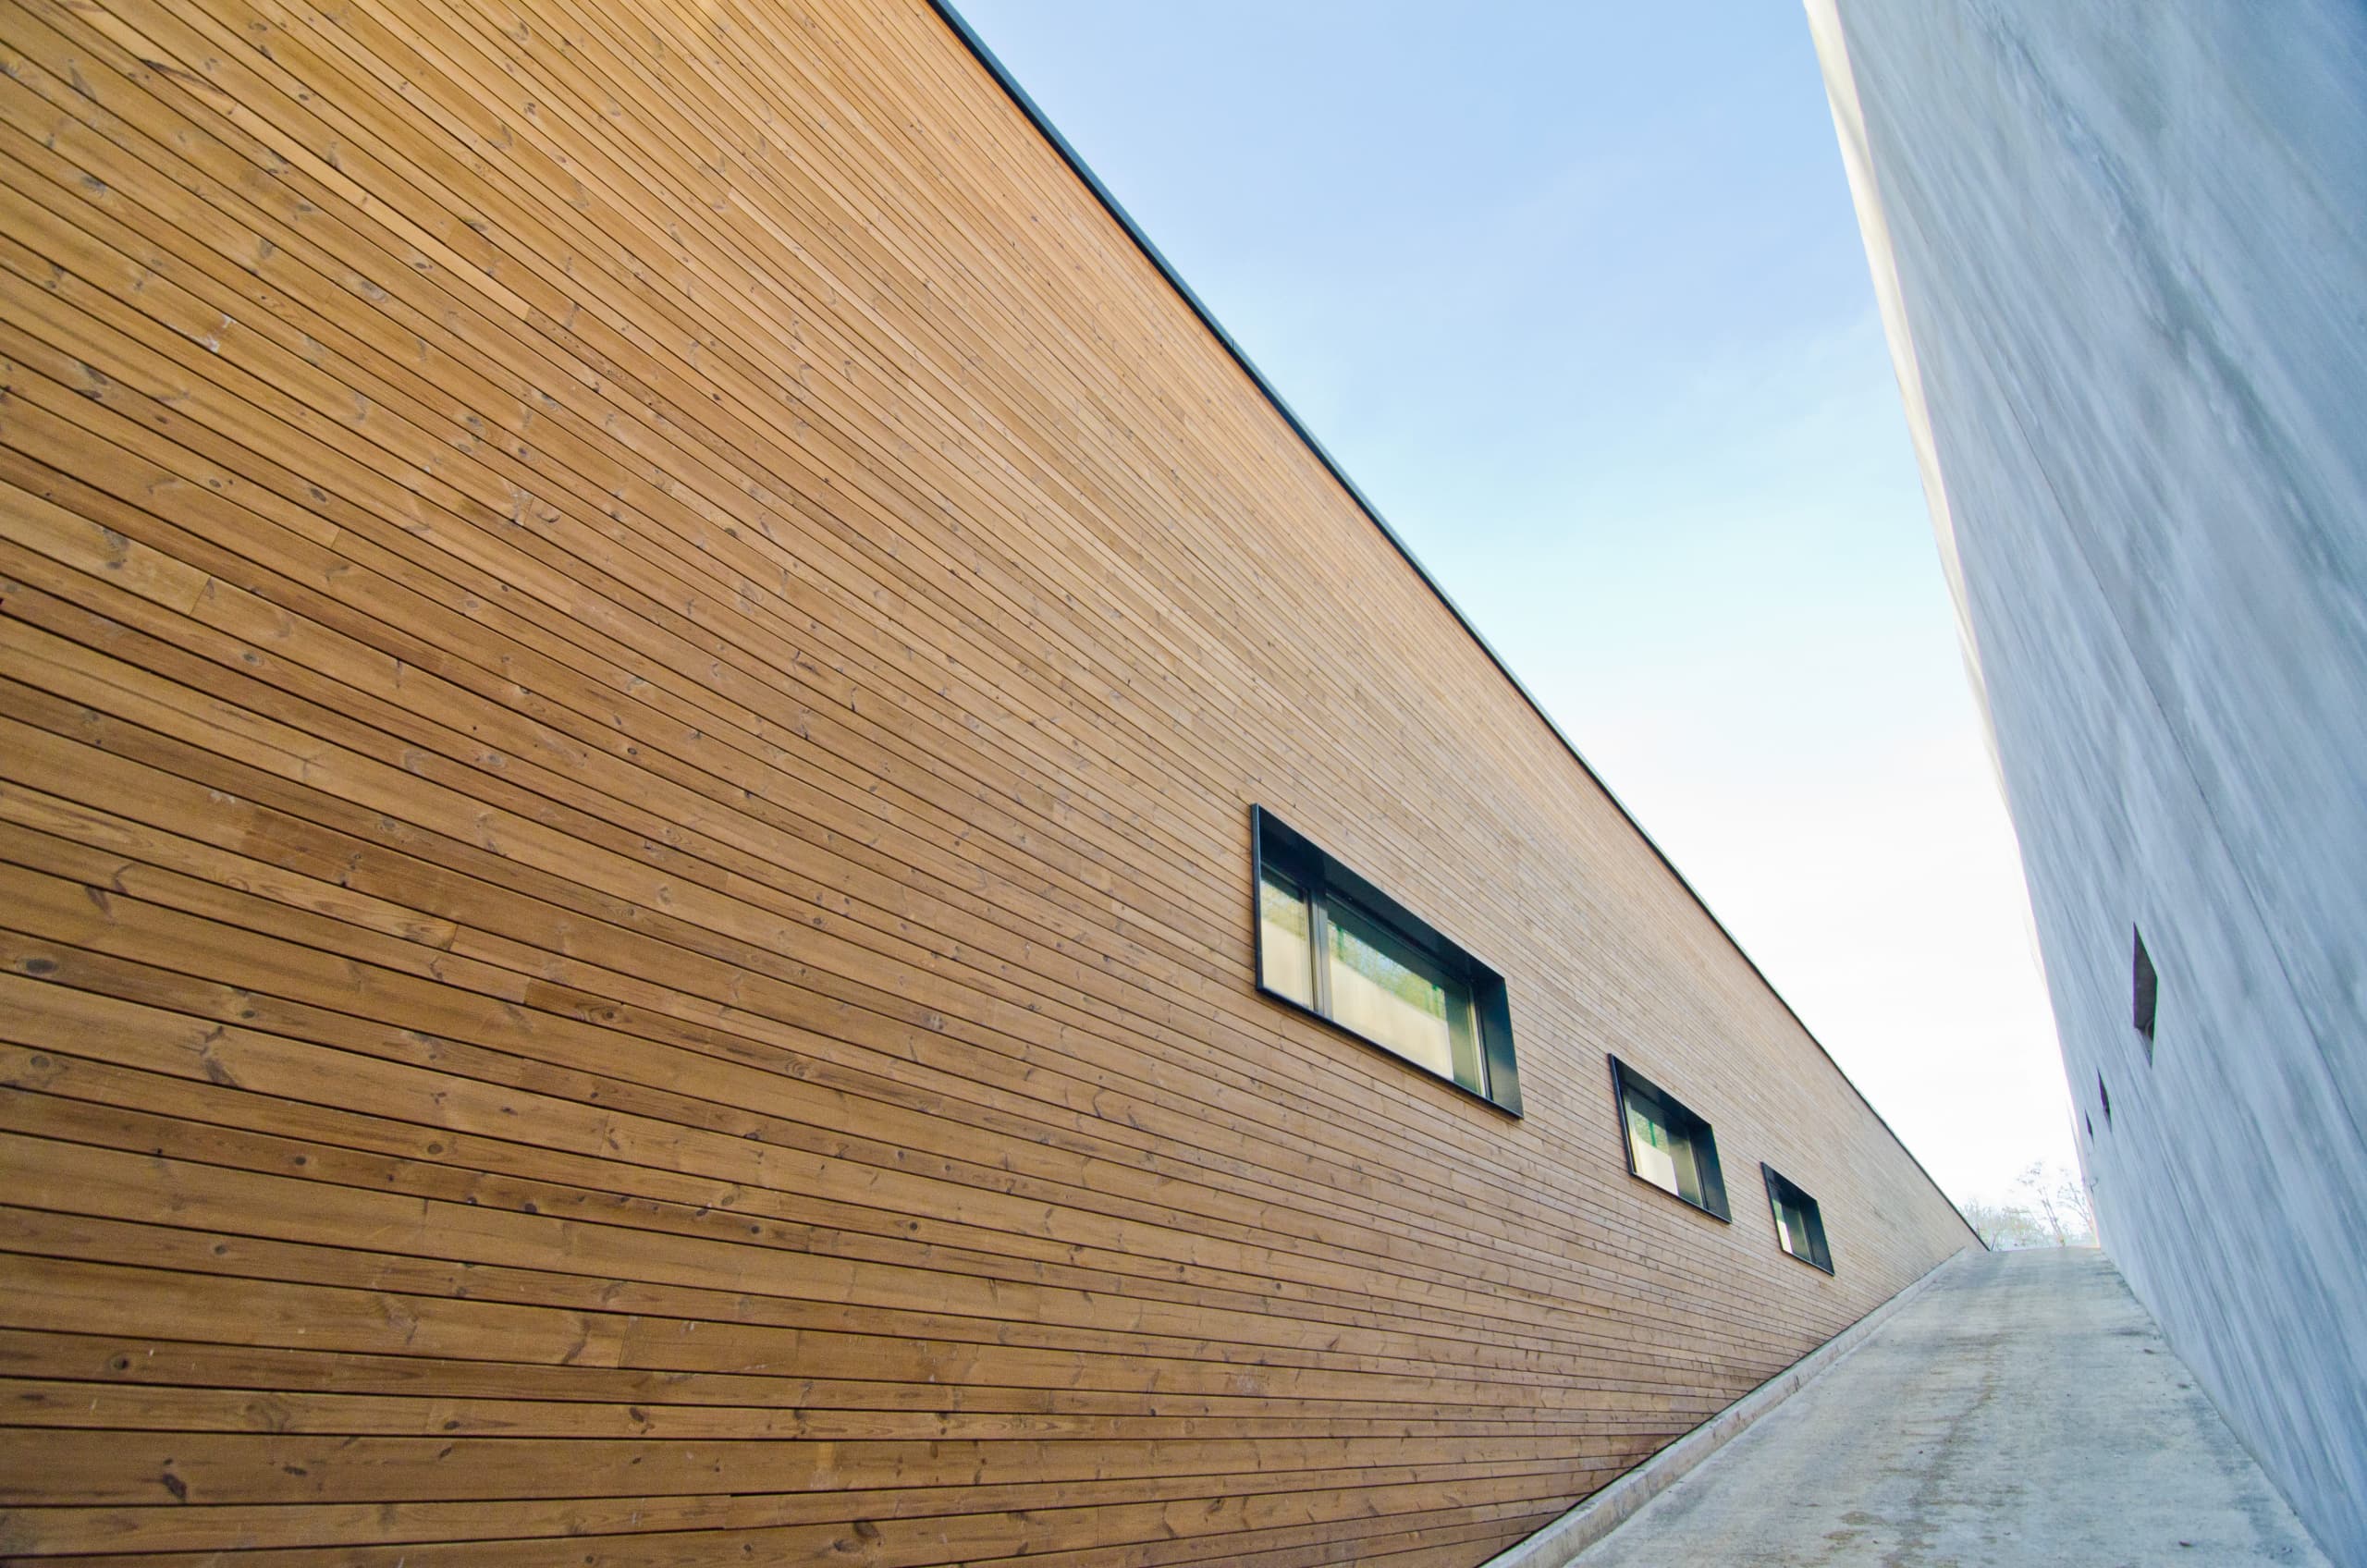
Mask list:
[[[0,50],[0,1551],[1468,1566],[1969,1244],[923,5]]]

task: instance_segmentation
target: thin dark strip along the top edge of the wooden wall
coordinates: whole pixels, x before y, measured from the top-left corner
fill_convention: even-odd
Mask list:
[[[1037,102],[1027,97],[1027,88],[1023,88],[1018,78],[1011,76],[1008,69],[1004,69],[1004,62],[994,57],[994,50],[987,47],[987,40],[978,36],[978,31],[963,19],[959,9],[954,9],[952,0],[928,0],[928,5],[930,9],[937,12],[944,26],[954,28],[954,36],[961,38],[963,47],[968,47],[970,54],[978,57],[978,64],[987,69],[987,76],[992,76],[997,85],[1001,85],[1001,90],[1011,97],[1011,102],[1020,107],[1020,114],[1025,114],[1034,123],[1037,133],[1046,142],[1051,142],[1051,149],[1060,154],[1060,159],[1070,166],[1070,171],[1079,180],[1084,180],[1084,187],[1094,192],[1094,199],[1101,201],[1103,211],[1108,211],[1110,218],[1117,220],[1117,227],[1127,230],[1127,239],[1131,239],[1134,246],[1150,258],[1150,265],[1160,270],[1160,277],[1167,279],[1167,287],[1174,289],[1186,306],[1191,306],[1191,313],[1200,317],[1200,324],[1207,327],[1207,334],[1212,339],[1217,339],[1217,346],[1224,348],[1236,365],[1240,365],[1240,374],[1250,377],[1250,386],[1255,386],[1259,396],[1273,407],[1273,412],[1283,417],[1283,424],[1290,426],[1290,433],[1295,433],[1307,445],[1307,450],[1314,452],[1316,462],[1323,464],[1323,471],[1333,476],[1333,481],[1347,493],[1352,502],[1356,502],[1356,509],[1363,512],[1366,521],[1380,528],[1380,538],[1389,540],[1389,547],[1406,559],[1406,566],[1411,566],[1413,576],[1423,580],[1423,587],[1427,587],[1432,597],[1446,606],[1446,613],[1453,616],[1456,625],[1460,625],[1463,632],[1472,640],[1472,644],[1477,644],[1477,649],[1486,654],[1486,661],[1496,666],[1496,673],[1503,675],[1505,682],[1510,682],[1513,692],[1517,692],[1524,703],[1529,703],[1529,711],[1536,713],[1536,720],[1541,725],[1546,725],[1546,732],[1562,744],[1562,751],[1567,751],[1569,760],[1579,765],[1579,772],[1584,772],[1593,782],[1593,786],[1602,791],[1602,798],[1612,803],[1612,810],[1617,810],[1626,820],[1626,824],[1636,831],[1636,836],[1643,838],[1643,846],[1659,857],[1659,862],[1669,869],[1669,876],[1676,879],[1676,886],[1685,888],[1685,895],[1695,902],[1695,907],[1700,907],[1702,914],[1709,917],[1709,924],[1718,928],[1718,936],[1726,938],[1726,945],[1733,947],[1744,964],[1749,964],[1752,973],[1759,976],[1759,983],[1766,985],[1771,997],[1775,997],[1775,1004],[1792,1016],[1792,1023],[1799,1023],[1799,1033],[1808,1035],[1808,1045],[1813,1045],[1818,1054],[1825,1059],[1825,1063],[1842,1078],[1842,1082],[1849,1085],[1849,1092],[1858,1097],[1858,1104],[1865,1106],[1865,1111],[1877,1123],[1882,1123],[1882,1130],[1889,1132],[1891,1142],[1898,1144],[1898,1149],[1908,1156],[1908,1161],[1915,1163],[1915,1170],[1922,1170],[1922,1177],[1931,1182],[1931,1172],[1924,1170],[1922,1161],[1915,1158],[1915,1151],[1908,1149],[1905,1139],[1898,1137],[1898,1130],[1891,1127],[1891,1123],[1882,1116],[1882,1111],[1875,1111],[1875,1101],[1865,1099],[1865,1090],[1860,1090],[1849,1078],[1849,1073],[1842,1073],[1842,1063],[1832,1059],[1832,1052],[1827,1052],[1825,1042],[1815,1037],[1815,1030],[1808,1028],[1806,1018],[1792,1011],[1792,1004],[1785,1000],[1785,995],[1775,990],[1775,981],[1771,981],[1766,971],[1759,969],[1759,959],[1754,959],[1742,947],[1742,943],[1735,940],[1735,933],[1726,928],[1726,921],[1718,919],[1718,912],[1709,907],[1709,902],[1695,891],[1690,881],[1685,881],[1685,874],[1678,872],[1676,862],[1669,860],[1669,853],[1652,841],[1652,834],[1643,831],[1643,824],[1636,822],[1636,812],[1631,812],[1626,803],[1619,801],[1619,796],[1612,791],[1612,786],[1602,782],[1602,775],[1595,772],[1593,763],[1586,760],[1576,741],[1572,741],[1562,732],[1562,727],[1553,722],[1553,715],[1546,713],[1546,703],[1536,701],[1536,694],[1531,694],[1529,687],[1520,685],[1520,675],[1513,673],[1513,666],[1508,666],[1503,656],[1489,647],[1489,640],[1479,635],[1479,628],[1472,625],[1470,616],[1465,616],[1460,606],[1456,606],[1453,597],[1449,597],[1449,592],[1439,587],[1439,580],[1430,576],[1430,568],[1423,566],[1423,561],[1411,550],[1406,550],[1406,540],[1397,538],[1397,528],[1392,528],[1389,519],[1380,514],[1380,507],[1375,507],[1366,497],[1366,493],[1356,488],[1356,481],[1347,476],[1347,469],[1342,469],[1333,460],[1333,455],[1323,450],[1323,443],[1316,441],[1314,431],[1309,431],[1299,422],[1299,417],[1290,412],[1290,403],[1283,400],[1283,393],[1273,391],[1273,384],[1266,381],[1266,372],[1262,372],[1250,360],[1250,355],[1243,353],[1240,343],[1233,341],[1233,334],[1224,329],[1224,322],[1219,322],[1217,315],[1200,303],[1200,296],[1193,294],[1191,284],[1184,282],[1184,275],[1167,263],[1167,258],[1160,253],[1160,246],[1150,244],[1150,234],[1143,232],[1143,225],[1139,225],[1134,216],[1127,213],[1127,208],[1117,201],[1117,197],[1110,194],[1110,187],[1101,182],[1101,175],[1094,173],[1094,166],[1086,163],[1075,147],[1068,144],[1068,137],[1060,135],[1060,128],[1051,123],[1051,116],[1046,116],[1037,107]],[[1946,1191],[1941,1191],[1939,1182],[1931,1182],[1931,1191],[1939,1191],[1941,1201],[1948,1203],[1948,1208],[1955,1208],[1955,1201],[1948,1199]],[[1958,1210],[1955,1217],[1958,1222],[1965,1225],[1967,1232],[1972,1232],[1972,1222],[1965,1220],[1962,1210]],[[1979,1232],[1972,1232],[1972,1236],[1974,1241],[1979,1241]]]

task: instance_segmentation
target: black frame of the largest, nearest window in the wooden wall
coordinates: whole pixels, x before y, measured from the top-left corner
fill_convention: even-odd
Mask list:
[[[1520,1063],[1513,1054],[1513,1004],[1505,992],[1503,976],[1491,966],[1470,955],[1468,947],[1444,936],[1437,926],[1418,917],[1406,905],[1397,902],[1370,881],[1352,872],[1337,857],[1328,855],[1311,838],[1292,829],[1288,822],[1269,812],[1264,805],[1250,808],[1250,947],[1257,959],[1257,990],[1269,1002],[1288,1007],[1290,1011],[1314,1018],[1323,1028],[1354,1040],[1373,1052],[1380,1052],[1389,1061],[1420,1073],[1434,1082],[1444,1082],[1468,1099],[1477,1099],[1482,1106],[1503,1111],[1505,1116],[1520,1116]],[[1323,964],[1323,936],[1328,928],[1328,910],[1333,902],[1349,905],[1363,921],[1382,926],[1387,936],[1406,943],[1425,959],[1444,969],[1458,985],[1470,992],[1472,1000],[1472,1028],[1477,1033],[1477,1056],[1482,1063],[1482,1082],[1468,1085],[1458,1078],[1439,1073],[1411,1056],[1404,1056],[1380,1040],[1363,1035],[1347,1023],[1340,1023],[1321,1007],[1309,1007],[1297,997],[1276,990],[1266,983],[1266,931],[1262,898],[1266,886],[1266,869],[1278,872],[1288,881],[1297,883],[1307,895],[1309,910],[1309,933],[1307,945],[1314,957],[1314,973],[1321,978]],[[1316,1002],[1321,1004],[1323,990],[1318,985]]]

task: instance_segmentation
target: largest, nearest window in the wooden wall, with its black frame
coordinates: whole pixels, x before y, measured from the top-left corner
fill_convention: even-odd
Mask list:
[[[1503,976],[1252,808],[1257,985],[1520,1116]]]

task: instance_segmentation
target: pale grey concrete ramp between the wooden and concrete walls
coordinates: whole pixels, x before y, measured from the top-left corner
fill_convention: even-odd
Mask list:
[[[2104,1253],[1967,1258],[1586,1568],[2327,1559]]]

